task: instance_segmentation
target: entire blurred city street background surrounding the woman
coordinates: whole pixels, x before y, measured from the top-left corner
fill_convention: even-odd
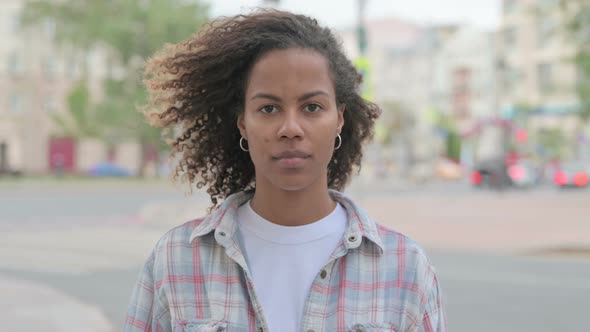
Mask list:
[[[381,115],[346,193],[426,249],[449,331],[589,331],[590,1],[335,4],[0,1],[0,332],[121,329],[155,243],[210,205],[203,191],[165,179],[179,159],[192,160],[138,112],[160,95],[142,83],[152,76],[146,60],[256,7],[325,24],[362,77],[358,94]],[[240,57],[240,67],[263,55]],[[170,117],[168,138],[194,143],[219,132],[201,130],[199,112],[239,103],[170,105],[187,115]]]

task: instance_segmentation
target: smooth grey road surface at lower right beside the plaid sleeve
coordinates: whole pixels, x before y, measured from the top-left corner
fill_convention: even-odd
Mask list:
[[[587,331],[590,259],[433,252],[450,331]]]

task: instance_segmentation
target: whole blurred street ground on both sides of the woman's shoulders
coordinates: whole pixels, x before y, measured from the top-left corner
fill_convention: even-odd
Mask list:
[[[202,192],[185,196],[185,189],[165,182],[0,184],[0,330],[119,330],[155,242],[208,206]],[[357,180],[348,193],[427,249],[450,331],[584,330],[590,191],[498,193],[462,182],[385,179]]]

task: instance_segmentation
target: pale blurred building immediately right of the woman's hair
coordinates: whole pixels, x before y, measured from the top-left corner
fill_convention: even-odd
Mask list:
[[[383,108],[380,124],[385,127],[383,130],[390,131],[387,141],[392,143],[391,149],[374,149],[384,151],[386,156],[369,155],[368,159],[377,165],[384,158],[395,159],[399,171],[409,176],[414,164],[438,155],[437,149],[433,149],[437,144],[432,144],[432,135],[424,135],[420,126],[432,99],[430,82],[437,47],[433,29],[385,18],[367,21],[366,32],[368,80],[374,101]],[[359,56],[356,33],[356,29],[340,31],[351,59]]]

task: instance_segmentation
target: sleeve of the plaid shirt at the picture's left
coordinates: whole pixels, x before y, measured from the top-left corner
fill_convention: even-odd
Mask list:
[[[154,252],[145,262],[133,288],[123,325],[124,332],[170,331],[168,308],[155,293]],[[161,316],[161,317],[158,317]]]

